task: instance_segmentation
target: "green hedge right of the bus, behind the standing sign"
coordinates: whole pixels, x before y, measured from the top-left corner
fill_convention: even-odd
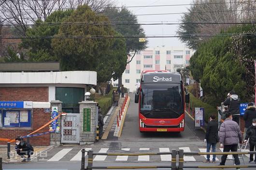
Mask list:
[[[215,115],[218,117],[218,113],[215,107],[207,103],[202,102],[200,99],[197,99],[193,94],[189,94],[190,98],[190,108],[194,107],[203,107],[204,108],[204,120],[208,122],[210,115]]]

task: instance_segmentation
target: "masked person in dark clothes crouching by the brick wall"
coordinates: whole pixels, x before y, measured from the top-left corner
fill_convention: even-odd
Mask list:
[[[24,142],[20,137],[17,137],[15,141],[15,150],[17,154],[23,158],[22,162],[29,162],[30,156],[33,155],[34,148],[31,144]],[[25,155],[28,156],[27,160]]]

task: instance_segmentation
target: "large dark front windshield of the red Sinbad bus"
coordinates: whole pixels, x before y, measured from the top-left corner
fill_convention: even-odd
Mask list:
[[[178,83],[145,83],[141,91],[141,113],[146,118],[176,118],[184,111],[183,91]],[[161,112],[161,113],[158,113]],[[167,113],[176,116],[168,116]],[[147,116],[146,116],[147,115]],[[151,115],[151,116],[150,116]],[[159,117],[157,116],[157,117]]]

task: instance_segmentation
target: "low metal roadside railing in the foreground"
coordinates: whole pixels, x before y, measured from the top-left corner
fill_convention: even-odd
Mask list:
[[[88,151],[88,164],[85,169],[85,149],[82,149],[82,162],[81,170],[92,169],[158,169],[158,168],[171,168],[171,170],[184,170],[184,169],[207,169],[207,168],[256,168],[256,165],[218,165],[218,166],[186,166],[184,165],[184,155],[243,155],[243,154],[256,154],[254,152],[184,152],[184,150],[171,150],[171,152],[155,152],[155,153],[93,153],[93,150]],[[171,155],[170,166],[93,166],[93,156],[142,156],[142,155]],[[176,158],[178,155],[178,159]],[[178,166],[176,163],[178,162]]]

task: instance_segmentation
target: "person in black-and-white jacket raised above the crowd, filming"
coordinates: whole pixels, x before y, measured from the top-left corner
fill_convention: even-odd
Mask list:
[[[228,98],[223,102],[223,105],[228,105],[228,112],[231,112],[233,121],[239,124],[240,99],[235,91],[230,91],[228,93]]]

